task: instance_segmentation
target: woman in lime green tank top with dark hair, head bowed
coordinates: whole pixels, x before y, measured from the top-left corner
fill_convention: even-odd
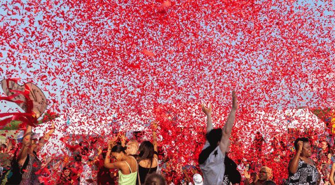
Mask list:
[[[119,169],[119,185],[135,185],[137,178],[137,162],[133,156],[127,156],[127,147],[121,145],[113,146],[114,142],[108,143],[108,151],[104,161],[104,167],[108,169]],[[110,163],[110,157],[116,162]]]

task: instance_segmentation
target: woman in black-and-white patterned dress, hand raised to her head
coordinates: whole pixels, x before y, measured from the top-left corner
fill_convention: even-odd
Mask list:
[[[290,160],[289,178],[285,185],[319,185],[321,175],[316,169],[312,156],[312,149],[307,138],[298,138],[294,142],[296,155]]]

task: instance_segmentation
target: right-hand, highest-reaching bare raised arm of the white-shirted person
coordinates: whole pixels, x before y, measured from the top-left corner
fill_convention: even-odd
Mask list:
[[[232,92],[232,110],[229,113],[228,119],[225,123],[225,125],[222,128],[222,137],[221,137],[221,142],[220,142],[220,150],[223,155],[226,154],[226,150],[229,147],[229,138],[232,133],[232,129],[234,126],[234,121],[235,121],[235,115],[236,115],[236,110],[238,107],[237,104],[237,99],[236,99],[236,92],[233,90]]]

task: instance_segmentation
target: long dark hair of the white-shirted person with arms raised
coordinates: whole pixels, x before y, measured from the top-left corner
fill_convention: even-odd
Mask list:
[[[206,134],[206,139],[209,143],[209,147],[203,149],[199,154],[198,159],[199,164],[202,164],[207,160],[210,153],[217,147],[217,143],[221,141],[221,137],[222,137],[221,128],[212,129],[208,134]]]

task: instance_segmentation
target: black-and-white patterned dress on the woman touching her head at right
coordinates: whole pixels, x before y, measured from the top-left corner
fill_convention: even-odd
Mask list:
[[[290,160],[291,162],[292,159]],[[318,180],[319,172],[316,167],[300,159],[297,172],[295,174],[289,172],[289,178],[286,180],[285,185],[316,185]]]

